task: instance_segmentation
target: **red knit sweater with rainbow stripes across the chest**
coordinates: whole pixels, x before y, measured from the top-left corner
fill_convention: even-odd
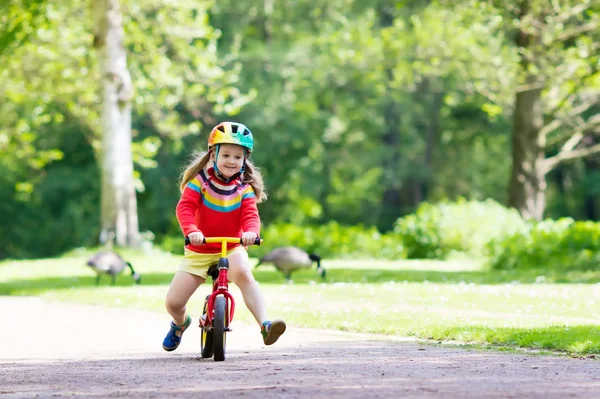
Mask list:
[[[205,237],[240,237],[243,232],[260,234],[256,196],[239,179],[224,183],[214,169],[202,170],[185,187],[177,204],[177,220],[183,234],[200,231]],[[239,244],[227,244],[228,249]],[[221,244],[188,245],[200,253],[219,253]]]

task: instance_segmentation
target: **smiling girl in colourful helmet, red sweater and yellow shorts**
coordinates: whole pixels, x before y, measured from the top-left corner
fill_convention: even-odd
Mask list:
[[[254,138],[246,126],[220,123],[208,136],[208,152],[196,158],[182,175],[177,220],[190,244],[165,301],[167,312],[173,317],[163,341],[166,351],[179,346],[181,335],[192,321],[186,314],[186,304],[208,277],[208,268],[220,257],[221,244],[202,245],[204,237],[241,237],[244,246],[248,246],[260,233],[256,204],[267,195],[260,172],[248,159],[253,147]],[[266,305],[250,271],[245,247],[227,245],[229,279],[240,288],[248,310],[260,325],[265,345],[272,345],[285,332],[285,322],[267,319]]]

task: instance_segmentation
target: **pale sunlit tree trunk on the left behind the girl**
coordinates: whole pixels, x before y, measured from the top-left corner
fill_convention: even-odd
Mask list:
[[[94,47],[102,83],[100,241],[119,246],[139,241],[131,155],[132,84],[123,44],[118,0],[94,0]]]

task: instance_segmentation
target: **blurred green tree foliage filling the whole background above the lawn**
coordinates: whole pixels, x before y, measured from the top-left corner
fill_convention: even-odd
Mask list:
[[[140,229],[180,235],[177,179],[220,120],[256,137],[266,227],[385,233],[424,201],[508,204],[532,77],[543,107],[521,115],[546,129],[534,158],[579,151],[544,170],[544,215],[598,220],[600,158],[583,153],[600,141],[598,5],[458,3],[123,0]],[[0,5],[0,258],[97,242],[91,10]]]

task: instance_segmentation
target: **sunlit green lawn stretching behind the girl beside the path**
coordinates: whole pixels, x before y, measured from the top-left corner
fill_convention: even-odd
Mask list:
[[[62,258],[0,262],[0,295],[164,312],[164,296],[178,256],[127,253],[142,285],[124,273],[95,285],[87,251]],[[293,326],[410,336],[493,348],[569,354],[600,352],[600,273],[489,272],[473,261],[325,260],[287,284],[270,266],[255,270],[269,313]],[[239,291],[231,287],[242,304]],[[197,315],[207,285],[190,302]],[[165,315],[166,316],[166,315]],[[236,319],[252,322],[244,306]]]

